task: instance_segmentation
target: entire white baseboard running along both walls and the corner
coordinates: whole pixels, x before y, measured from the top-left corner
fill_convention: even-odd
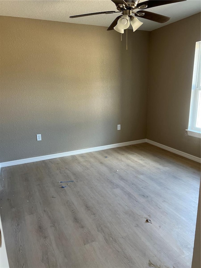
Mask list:
[[[144,143],[144,142],[155,145],[157,147],[160,147],[162,149],[165,149],[165,150],[170,151],[172,153],[175,153],[177,155],[184,156],[184,157],[191,159],[193,161],[196,161],[199,163],[201,162],[201,159],[199,157],[189,155],[187,153],[184,153],[182,151],[176,150],[174,148],[168,147],[166,145],[160,144],[158,142],[155,142],[155,141],[152,141],[149,139],[139,139],[139,140],[116,143],[116,144],[111,144],[111,145],[104,145],[104,146],[98,146],[98,147],[93,147],[93,148],[63,152],[63,153],[58,153],[58,154],[52,154],[52,155],[46,155],[46,156],[36,156],[36,157],[30,157],[30,158],[19,159],[19,160],[14,160],[14,161],[2,162],[2,163],[0,163],[0,172],[1,172],[1,167],[15,166],[15,165],[31,163],[31,162],[36,162],[36,161],[42,161],[42,160],[48,160],[48,159],[53,159],[53,158],[58,158],[58,157],[63,157],[63,156],[73,156],[73,155],[95,152],[95,151],[100,151],[100,150],[106,150],[106,149],[111,149],[111,148],[117,148],[117,147],[122,147],[122,146],[134,145],[134,144],[139,144],[139,143]]]

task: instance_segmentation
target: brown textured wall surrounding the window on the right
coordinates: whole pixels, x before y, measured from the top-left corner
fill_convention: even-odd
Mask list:
[[[150,35],[147,138],[200,157],[201,139],[186,136],[200,13]]]

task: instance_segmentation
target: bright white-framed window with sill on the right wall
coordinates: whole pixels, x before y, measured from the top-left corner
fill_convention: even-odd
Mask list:
[[[201,41],[196,42],[188,135],[201,138]]]

